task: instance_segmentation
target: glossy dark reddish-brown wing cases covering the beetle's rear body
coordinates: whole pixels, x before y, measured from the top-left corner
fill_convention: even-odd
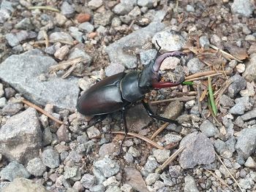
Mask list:
[[[124,101],[119,88],[125,73],[115,74],[97,82],[78,100],[78,112],[83,115],[102,115],[121,110],[129,104]]]

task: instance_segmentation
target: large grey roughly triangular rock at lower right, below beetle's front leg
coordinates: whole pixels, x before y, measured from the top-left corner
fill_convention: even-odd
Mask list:
[[[186,147],[179,159],[179,164],[183,169],[193,168],[200,164],[211,164],[215,161],[214,146],[204,134],[195,132],[188,134],[181,140],[180,145]]]

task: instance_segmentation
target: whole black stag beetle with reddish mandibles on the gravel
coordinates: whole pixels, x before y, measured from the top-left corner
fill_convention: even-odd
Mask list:
[[[159,46],[159,50],[160,48]],[[159,53],[159,50],[157,53]],[[141,72],[121,72],[97,82],[83,93],[78,100],[78,112],[83,115],[105,115],[121,110],[126,137],[128,132],[126,121],[127,107],[134,104],[136,101],[142,100],[143,106],[151,118],[177,124],[176,120],[170,120],[155,115],[143,98],[145,94],[152,89],[170,88],[184,81],[184,77],[182,77],[182,80],[178,82],[161,82],[159,74],[159,68],[165,58],[181,58],[181,56],[184,55],[186,55],[186,53],[179,51],[164,53],[158,57],[156,56],[154,60],[151,60]]]

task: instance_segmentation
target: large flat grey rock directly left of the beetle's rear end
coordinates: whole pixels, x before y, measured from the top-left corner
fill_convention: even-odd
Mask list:
[[[56,61],[43,56],[39,50],[12,55],[0,65],[0,78],[12,85],[34,104],[54,104],[59,109],[75,110],[79,88],[77,80],[49,77],[40,81],[39,75],[47,73]]]

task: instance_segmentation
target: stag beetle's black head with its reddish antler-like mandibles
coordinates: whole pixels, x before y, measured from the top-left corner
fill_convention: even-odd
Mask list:
[[[173,52],[167,52],[162,55],[159,55],[157,58],[151,60],[150,63],[144,67],[143,71],[140,74],[140,80],[139,80],[140,90],[143,93],[147,93],[152,88],[159,88],[157,84],[160,81],[159,69],[162,62],[165,60],[165,58],[168,58],[168,57],[181,58],[184,55],[187,55],[187,54],[180,51],[173,51]],[[160,88],[176,86],[181,82],[183,82],[183,80],[175,83],[173,82],[169,83],[169,85],[165,85]]]

